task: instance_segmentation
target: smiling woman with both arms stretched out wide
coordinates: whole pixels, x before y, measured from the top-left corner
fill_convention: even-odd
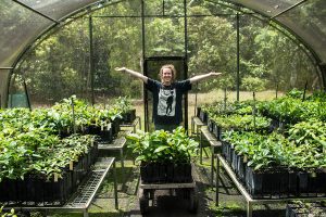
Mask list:
[[[191,84],[222,75],[222,73],[211,72],[186,80],[176,81],[176,69],[174,65],[167,64],[163,65],[160,69],[160,82],[126,67],[116,67],[115,71],[128,73],[146,84],[146,88],[153,94],[155,130],[164,129],[168,131],[175,129],[183,122],[183,94],[191,90]]]

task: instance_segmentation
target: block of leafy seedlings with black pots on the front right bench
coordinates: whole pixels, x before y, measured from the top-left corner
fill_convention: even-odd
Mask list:
[[[312,131],[314,125],[321,127],[321,133]],[[326,125],[306,126],[309,129],[298,131],[294,125],[288,137],[276,132],[224,135],[223,154],[253,196],[326,195]]]

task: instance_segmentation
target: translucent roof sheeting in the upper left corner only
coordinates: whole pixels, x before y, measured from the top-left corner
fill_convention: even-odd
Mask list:
[[[0,1],[0,67],[13,66],[25,48],[41,33],[96,0],[21,0],[17,2]]]

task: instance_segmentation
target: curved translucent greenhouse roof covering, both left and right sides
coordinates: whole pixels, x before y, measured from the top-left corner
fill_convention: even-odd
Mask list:
[[[77,13],[118,2],[117,0],[1,0],[0,1],[0,92],[8,87],[9,72],[23,53],[45,33],[64,25]],[[279,24],[312,53],[325,77],[326,1],[325,0],[210,0],[248,8],[268,22]],[[1,100],[1,98],[0,98]],[[0,101],[1,102],[1,101]],[[1,103],[0,103],[1,104]]]

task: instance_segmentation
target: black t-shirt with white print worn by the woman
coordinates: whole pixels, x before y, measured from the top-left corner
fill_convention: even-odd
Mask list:
[[[148,78],[146,88],[153,94],[153,120],[158,125],[178,125],[183,122],[183,94],[191,90],[190,80],[163,86]]]

